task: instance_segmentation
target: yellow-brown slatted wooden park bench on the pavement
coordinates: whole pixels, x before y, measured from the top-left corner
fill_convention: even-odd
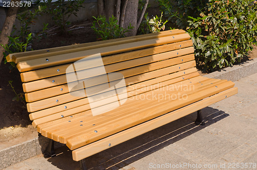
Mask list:
[[[103,91],[96,90],[101,81],[89,85],[87,81],[77,90],[95,89],[102,101],[93,106],[88,99],[90,95],[70,93],[68,83],[72,80],[67,83],[66,71],[69,66],[75,68],[75,62],[98,53],[102,56],[105,75],[118,72],[124,77],[108,80],[110,88],[114,86],[112,81],[123,80],[126,93],[105,98],[101,96]],[[32,125],[43,136],[66,144],[72,150],[73,159],[82,164],[91,155],[195,111],[198,111],[196,122],[204,124],[200,109],[237,93],[231,81],[199,75],[190,35],[178,29],[13,53],[7,56],[7,61],[17,63],[21,72]],[[76,67],[76,76],[84,70],[92,74],[87,76],[90,80],[105,76],[95,70],[98,66],[86,65],[90,68]],[[83,84],[83,80],[77,77],[74,82]],[[117,98],[119,107],[106,112],[107,105],[117,102]],[[102,108],[103,114],[94,115],[95,108]]]

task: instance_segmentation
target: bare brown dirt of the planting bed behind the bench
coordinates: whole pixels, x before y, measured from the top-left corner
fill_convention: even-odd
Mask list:
[[[96,35],[89,25],[87,28],[70,32],[66,37],[54,35],[35,41],[32,47],[36,50],[94,41],[96,41]],[[257,58],[256,46],[246,60],[253,58]],[[12,101],[15,93],[11,86],[8,85],[8,81],[13,81],[12,85],[16,93],[23,92],[23,90],[19,71],[10,71],[8,67],[9,64],[4,64],[4,62],[0,66],[0,144],[9,142],[14,138],[30,135],[36,130],[31,125],[32,121],[29,120],[29,113],[24,104]],[[200,74],[205,74],[201,71],[199,72]]]

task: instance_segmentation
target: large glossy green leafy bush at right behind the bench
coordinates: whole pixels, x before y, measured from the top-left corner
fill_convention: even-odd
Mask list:
[[[213,70],[240,62],[256,43],[256,10],[249,0],[210,0],[199,17],[190,17],[197,63]]]

